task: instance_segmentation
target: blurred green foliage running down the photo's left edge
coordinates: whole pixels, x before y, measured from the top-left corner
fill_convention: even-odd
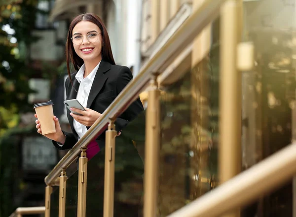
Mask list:
[[[0,217],[9,216],[21,204],[13,197],[23,186],[19,171],[19,142],[32,127],[19,127],[19,113],[32,111],[28,81],[33,70],[26,51],[32,42],[37,0],[0,1]]]

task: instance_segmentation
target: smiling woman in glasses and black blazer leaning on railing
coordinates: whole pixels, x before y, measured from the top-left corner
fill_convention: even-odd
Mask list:
[[[45,136],[62,150],[71,149],[132,80],[128,67],[115,65],[106,27],[94,14],[81,14],[72,21],[68,32],[66,57],[69,74],[65,83],[67,100],[76,98],[86,111],[72,108],[72,111],[82,115],[79,116],[67,110],[72,133],[62,131],[58,119],[54,116],[56,133]],[[73,74],[70,73],[70,61],[77,71]],[[117,135],[143,110],[138,98],[117,118]],[[37,118],[37,115],[35,117]],[[42,133],[38,120],[36,124],[37,132]],[[105,145],[105,132],[96,142],[89,144],[89,158],[99,151],[98,144],[100,148]],[[94,148],[95,153],[90,152]]]

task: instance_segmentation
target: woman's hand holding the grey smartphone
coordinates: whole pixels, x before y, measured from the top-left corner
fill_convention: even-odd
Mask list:
[[[100,116],[102,114],[100,114],[99,112],[96,112],[94,110],[91,110],[89,108],[84,108],[86,111],[82,111],[80,109],[76,109],[76,108],[71,108],[71,111],[73,112],[77,112],[80,115],[75,115],[72,112],[70,113],[70,115],[80,124],[83,124],[84,126],[91,126],[92,124],[95,123],[95,121],[98,120],[98,118],[100,118]]]

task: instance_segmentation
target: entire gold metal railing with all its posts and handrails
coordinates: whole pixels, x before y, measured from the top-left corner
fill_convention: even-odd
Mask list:
[[[157,200],[157,156],[159,151],[159,90],[158,82],[170,62],[181,53],[187,54],[192,47],[192,41],[218,15],[221,15],[221,123],[220,123],[220,170],[222,185],[211,193],[191,202],[169,217],[216,217],[226,212],[240,208],[256,199],[276,186],[283,184],[296,173],[296,144],[268,157],[251,169],[240,173],[237,166],[240,162],[240,103],[241,103],[241,76],[238,72],[237,46],[240,43],[241,0],[205,0],[198,9],[185,21],[183,26],[155,53],[142,67],[139,75],[116,97],[111,105],[61,159],[54,169],[45,177],[45,217],[50,217],[50,194],[52,187],[59,178],[60,203],[59,217],[65,217],[66,198],[66,169],[79,159],[78,177],[78,208],[77,216],[85,217],[86,183],[87,183],[87,156],[85,149],[88,143],[98,134],[106,131],[106,153],[111,158],[105,161],[104,187],[104,217],[113,216],[114,194],[114,152],[115,148],[114,121],[138,95],[148,89],[148,109],[146,116],[146,144],[145,144],[145,198],[144,216],[156,216]],[[178,58],[177,58],[178,59]],[[245,64],[244,65],[248,65]],[[160,79],[157,79],[159,78]],[[227,102],[228,101],[228,102]],[[227,102],[227,103],[226,103]],[[111,159],[111,160],[110,160]],[[239,174],[239,175],[237,175]],[[237,175],[237,176],[236,176]],[[234,178],[232,178],[234,177]],[[232,179],[231,179],[232,178]],[[268,180],[268,182],[265,182]],[[252,189],[252,190],[250,190]]]

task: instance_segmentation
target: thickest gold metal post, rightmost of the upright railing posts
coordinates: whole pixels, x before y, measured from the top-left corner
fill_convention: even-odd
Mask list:
[[[220,84],[220,182],[241,171],[241,73],[237,70],[239,0],[227,0],[221,9],[221,84]],[[235,199],[235,198],[234,198]],[[225,215],[239,217],[239,209]]]

